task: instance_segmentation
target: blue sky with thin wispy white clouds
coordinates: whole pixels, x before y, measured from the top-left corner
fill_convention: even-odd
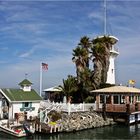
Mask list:
[[[140,88],[140,0],[107,0],[107,34],[119,39],[116,84],[133,79]],[[0,0],[0,88],[28,78],[39,91],[42,62],[42,89],[62,84],[76,75],[72,50],[80,38],[99,35],[103,0]]]

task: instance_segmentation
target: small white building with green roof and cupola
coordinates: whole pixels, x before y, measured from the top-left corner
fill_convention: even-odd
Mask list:
[[[0,89],[0,118],[13,120],[18,117],[29,119],[38,115],[42,98],[31,88],[32,83],[24,79],[20,89]],[[20,116],[19,116],[20,115]]]

